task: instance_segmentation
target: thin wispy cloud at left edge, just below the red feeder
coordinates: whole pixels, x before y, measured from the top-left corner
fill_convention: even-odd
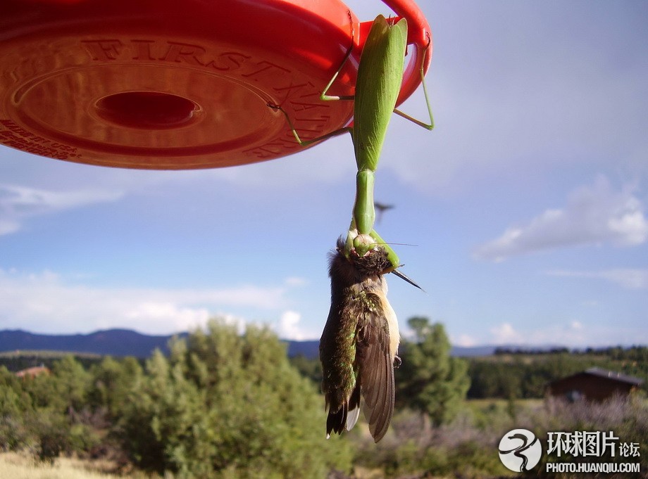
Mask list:
[[[120,191],[49,191],[0,185],[0,236],[19,231],[25,219],[122,198]]]

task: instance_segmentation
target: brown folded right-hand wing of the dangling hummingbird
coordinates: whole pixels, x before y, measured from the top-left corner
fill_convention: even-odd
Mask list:
[[[380,297],[369,293],[368,307],[359,331],[358,356],[363,413],[373,440],[387,433],[394,414],[394,359],[390,352],[390,328]]]

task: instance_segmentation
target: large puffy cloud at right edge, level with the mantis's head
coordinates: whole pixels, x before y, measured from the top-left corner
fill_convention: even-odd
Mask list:
[[[648,219],[635,186],[613,191],[605,177],[571,193],[566,207],[549,209],[523,226],[480,245],[475,257],[501,261],[513,255],[571,245],[611,243],[635,246],[648,240]]]

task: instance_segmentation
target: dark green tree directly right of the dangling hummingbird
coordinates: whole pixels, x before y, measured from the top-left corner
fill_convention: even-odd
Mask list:
[[[470,386],[468,364],[450,356],[442,324],[413,317],[408,324],[414,341],[404,341],[403,362],[397,370],[397,400],[427,414],[435,425],[456,416]]]

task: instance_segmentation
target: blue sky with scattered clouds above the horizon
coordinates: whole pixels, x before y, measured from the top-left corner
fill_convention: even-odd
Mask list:
[[[362,20],[390,11],[347,2]],[[648,3],[420,1],[436,128],[394,117],[378,231],[401,327],[456,345],[648,343]],[[403,108],[425,118],[422,91]],[[319,338],[351,140],[257,165],[117,170],[0,146],[0,328]],[[404,332],[407,333],[406,328]]]

